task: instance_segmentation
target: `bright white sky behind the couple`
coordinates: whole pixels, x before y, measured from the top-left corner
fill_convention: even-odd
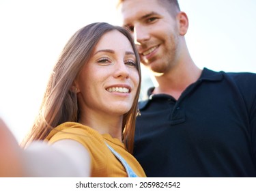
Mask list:
[[[186,41],[200,67],[256,72],[255,0],[180,0]],[[0,0],[0,117],[21,141],[70,36],[89,23],[119,24],[115,0]]]

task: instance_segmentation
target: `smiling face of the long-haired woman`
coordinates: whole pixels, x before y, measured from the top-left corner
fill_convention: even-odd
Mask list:
[[[81,113],[127,113],[139,85],[136,67],[136,57],[126,36],[117,30],[105,33],[75,82]]]

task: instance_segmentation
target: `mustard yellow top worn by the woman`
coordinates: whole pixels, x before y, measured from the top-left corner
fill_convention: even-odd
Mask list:
[[[126,151],[124,143],[110,134],[100,134],[98,131],[83,126],[81,123],[66,122],[57,126],[48,134],[46,141],[54,143],[61,139],[72,139],[81,143],[91,156],[91,177],[128,177],[121,162],[113,155],[105,143],[109,144],[126,160],[134,173],[145,177],[143,168],[137,160]]]

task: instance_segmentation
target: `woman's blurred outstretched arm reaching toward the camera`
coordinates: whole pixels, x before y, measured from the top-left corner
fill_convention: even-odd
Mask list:
[[[61,140],[48,145],[36,141],[23,150],[1,119],[0,155],[0,177],[89,177],[90,175],[89,153],[80,143]]]

